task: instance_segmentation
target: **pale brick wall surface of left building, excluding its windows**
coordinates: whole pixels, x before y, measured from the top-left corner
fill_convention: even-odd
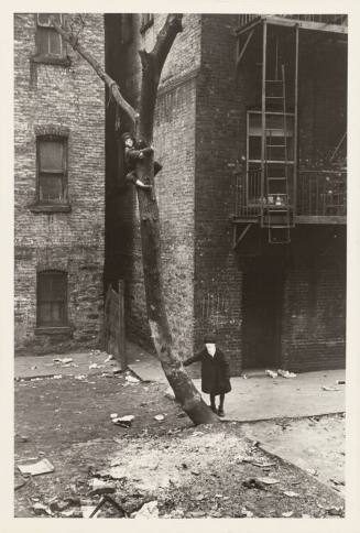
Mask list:
[[[72,15],[73,17],[73,15]],[[86,14],[84,46],[103,63],[103,17]],[[41,64],[35,15],[14,15],[15,346],[48,351],[96,346],[102,327],[105,251],[105,89],[73,51],[70,65]],[[36,131],[68,132],[70,213],[32,213]],[[73,334],[35,336],[36,271],[68,273]]]

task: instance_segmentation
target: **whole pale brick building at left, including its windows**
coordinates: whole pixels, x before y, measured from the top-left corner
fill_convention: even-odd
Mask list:
[[[103,63],[103,15],[85,15],[81,41]],[[46,13],[14,15],[14,130],[15,349],[96,346],[103,307],[105,88]]]

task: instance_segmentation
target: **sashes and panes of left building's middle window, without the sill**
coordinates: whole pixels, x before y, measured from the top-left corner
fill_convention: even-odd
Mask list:
[[[64,138],[37,138],[39,202],[62,204],[66,197],[66,149]]]

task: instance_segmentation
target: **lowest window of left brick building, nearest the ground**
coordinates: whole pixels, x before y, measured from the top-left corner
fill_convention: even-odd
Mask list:
[[[67,274],[55,270],[37,274],[37,326],[67,324]]]

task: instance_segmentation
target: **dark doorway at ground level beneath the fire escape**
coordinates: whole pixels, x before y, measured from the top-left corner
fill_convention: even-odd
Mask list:
[[[243,275],[242,367],[279,368],[284,274],[251,270]]]

